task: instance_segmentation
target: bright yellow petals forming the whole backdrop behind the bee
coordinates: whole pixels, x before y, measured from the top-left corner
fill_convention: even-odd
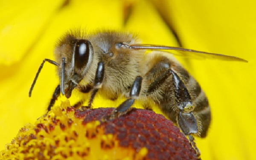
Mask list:
[[[55,66],[46,64],[32,97],[26,95],[41,61],[44,58],[53,59],[55,42],[65,31],[79,25],[86,26],[88,30],[102,27],[126,29],[139,33],[143,43],[177,46],[171,27],[184,48],[249,60],[249,63],[236,63],[183,60],[178,57],[201,84],[211,105],[212,124],[208,136],[205,139],[197,138],[196,141],[202,159],[256,159],[256,129],[253,127],[256,122],[253,116],[256,110],[253,107],[253,97],[256,97],[256,11],[253,7],[256,2],[152,2],[1,2],[0,146],[10,143],[20,127],[33,123],[45,112],[51,94],[58,84]],[[124,20],[124,11],[127,13],[125,15],[129,15],[127,20]],[[78,93],[74,94],[80,96]],[[123,101],[106,100],[102,103],[100,95],[96,99],[99,103],[94,104],[95,106],[118,106]],[[75,103],[76,99],[70,101]]]

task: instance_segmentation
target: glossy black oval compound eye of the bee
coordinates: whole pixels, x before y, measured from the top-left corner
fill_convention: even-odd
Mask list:
[[[82,69],[87,65],[92,51],[92,45],[88,40],[78,40],[75,44],[75,67]]]

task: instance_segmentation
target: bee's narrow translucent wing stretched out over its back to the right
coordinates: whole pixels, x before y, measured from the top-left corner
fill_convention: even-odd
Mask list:
[[[160,46],[160,45],[151,45],[151,44],[131,44],[128,45],[130,49],[149,49],[149,50],[168,50],[172,54],[173,51],[177,51],[177,55],[185,56],[185,57],[195,57],[195,58],[208,58],[208,59],[218,59],[218,60],[229,60],[229,61],[239,61],[239,62],[248,62],[239,57],[228,56],[224,54],[215,54],[208,53],[205,51],[196,51],[192,49],[183,49],[180,47],[171,47],[171,46]]]

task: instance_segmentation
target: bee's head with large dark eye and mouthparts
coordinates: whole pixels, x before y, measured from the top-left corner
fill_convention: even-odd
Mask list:
[[[61,92],[69,98],[90,68],[93,46],[89,40],[73,39],[57,47],[56,54],[59,59],[62,58],[59,67]]]

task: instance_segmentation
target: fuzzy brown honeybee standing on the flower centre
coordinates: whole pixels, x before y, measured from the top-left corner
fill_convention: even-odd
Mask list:
[[[147,52],[151,50],[151,52]],[[164,51],[163,51],[164,50]],[[180,54],[247,62],[238,57],[207,53],[171,46],[137,44],[137,38],[119,31],[69,31],[58,41],[55,60],[44,59],[38,69],[29,97],[45,62],[57,66],[60,85],[55,89],[48,106],[54,105],[60,93],[69,98],[74,89],[91,92],[90,108],[98,91],[109,99],[125,95],[120,104],[106,119],[118,117],[129,111],[134,100],[152,100],[194,143],[196,134],[205,137],[211,121],[211,111],[204,91],[198,82],[170,54]],[[74,107],[79,108],[83,100]]]

